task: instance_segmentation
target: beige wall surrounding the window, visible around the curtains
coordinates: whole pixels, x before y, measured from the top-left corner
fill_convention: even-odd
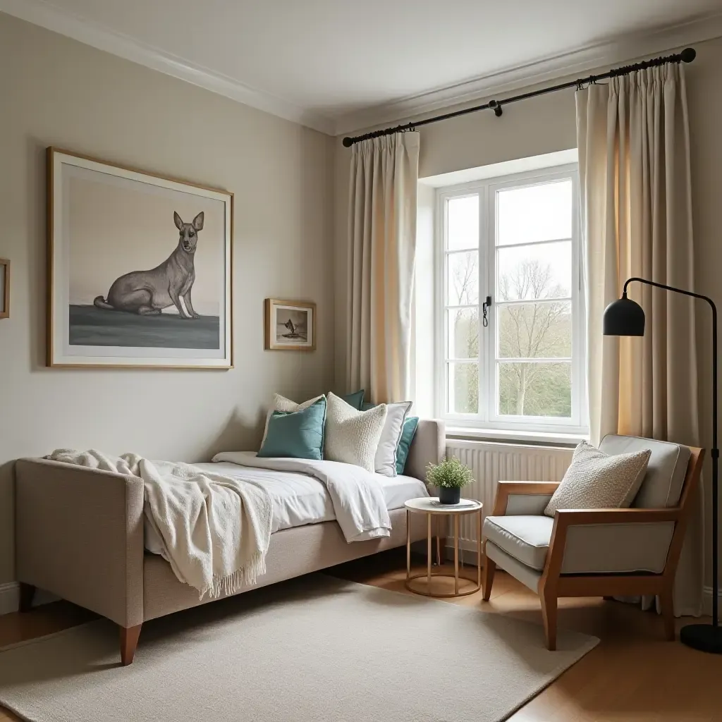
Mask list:
[[[696,284],[698,291],[710,295],[718,305],[722,305],[722,38],[694,43],[694,47],[697,49],[697,59],[687,67],[687,95],[692,136]],[[666,53],[660,53],[664,54]],[[442,111],[437,111],[440,112]],[[396,122],[390,124],[396,125]],[[421,178],[575,148],[574,92],[556,92],[509,105],[504,108],[501,118],[497,118],[490,111],[482,111],[424,126],[419,132]],[[349,149],[342,147],[340,138],[336,139],[336,385],[339,388],[344,388],[346,367],[345,251],[349,157]],[[708,310],[700,305],[699,311],[697,345],[700,356],[700,431],[701,442],[709,448],[710,326]],[[706,469],[705,502],[709,510],[709,461]],[[708,549],[709,544],[705,548]],[[707,583],[710,583],[709,573]]]

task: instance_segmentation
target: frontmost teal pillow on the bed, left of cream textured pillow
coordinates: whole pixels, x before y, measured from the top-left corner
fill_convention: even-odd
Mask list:
[[[323,458],[323,427],[326,399],[318,399],[306,409],[274,411],[269,419],[261,458]]]

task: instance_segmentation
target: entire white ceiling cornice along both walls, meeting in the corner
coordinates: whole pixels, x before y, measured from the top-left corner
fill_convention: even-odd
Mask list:
[[[451,105],[471,103],[497,93],[510,92],[520,87],[602,66],[622,64],[632,58],[651,56],[671,48],[722,37],[722,13],[708,15],[681,25],[626,35],[610,43],[600,43],[542,58],[451,87],[401,98],[334,119],[271,93],[257,90],[216,71],[189,63],[151,45],[139,43],[128,35],[77,17],[45,0],[0,0],[0,12],[328,135],[349,134],[394,121],[408,121]]]

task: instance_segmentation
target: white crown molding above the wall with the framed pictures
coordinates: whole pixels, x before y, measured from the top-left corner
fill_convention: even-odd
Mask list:
[[[313,113],[295,103],[271,95],[271,93],[257,90],[224,74],[189,63],[183,58],[160,51],[152,45],[139,43],[128,35],[77,17],[77,15],[48,4],[45,0],[0,0],[0,11],[32,22],[33,25],[40,25],[47,30],[58,32],[60,35],[66,35],[66,37],[78,40],[85,45],[92,45],[98,50],[185,80],[219,95],[225,95],[238,103],[250,105],[251,108],[263,110],[287,121],[300,123],[300,125],[327,135],[334,134],[335,124],[331,118]]]

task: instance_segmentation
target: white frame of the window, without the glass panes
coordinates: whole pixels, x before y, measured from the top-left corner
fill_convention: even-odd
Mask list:
[[[496,191],[504,188],[523,188],[550,181],[570,180],[572,182],[573,203],[572,218],[572,357],[570,363],[572,399],[571,417],[518,417],[499,416],[497,406],[496,373],[496,326],[498,310],[504,303],[497,303],[495,245],[496,235]],[[446,259],[453,253],[464,251],[446,251],[446,201],[452,198],[479,195],[479,413],[455,414],[447,408],[447,365],[454,362],[446,356],[448,331],[447,289],[448,274]],[[559,433],[565,435],[586,435],[588,433],[588,411],[586,391],[586,308],[583,292],[582,248],[579,220],[579,178],[578,164],[570,163],[553,168],[541,168],[525,173],[514,173],[482,181],[460,183],[456,186],[438,188],[436,191],[435,222],[435,266],[436,266],[436,303],[435,303],[435,412],[453,427],[469,429],[500,430],[521,433]],[[564,239],[566,240],[566,239]],[[551,243],[541,241],[539,243]],[[519,244],[526,245],[526,244]],[[531,245],[531,243],[529,244]],[[472,249],[466,249],[472,250]],[[492,305],[487,311],[489,326],[482,326],[481,303],[492,296]],[[453,307],[451,307],[453,308]],[[484,399],[487,401],[484,403]]]

